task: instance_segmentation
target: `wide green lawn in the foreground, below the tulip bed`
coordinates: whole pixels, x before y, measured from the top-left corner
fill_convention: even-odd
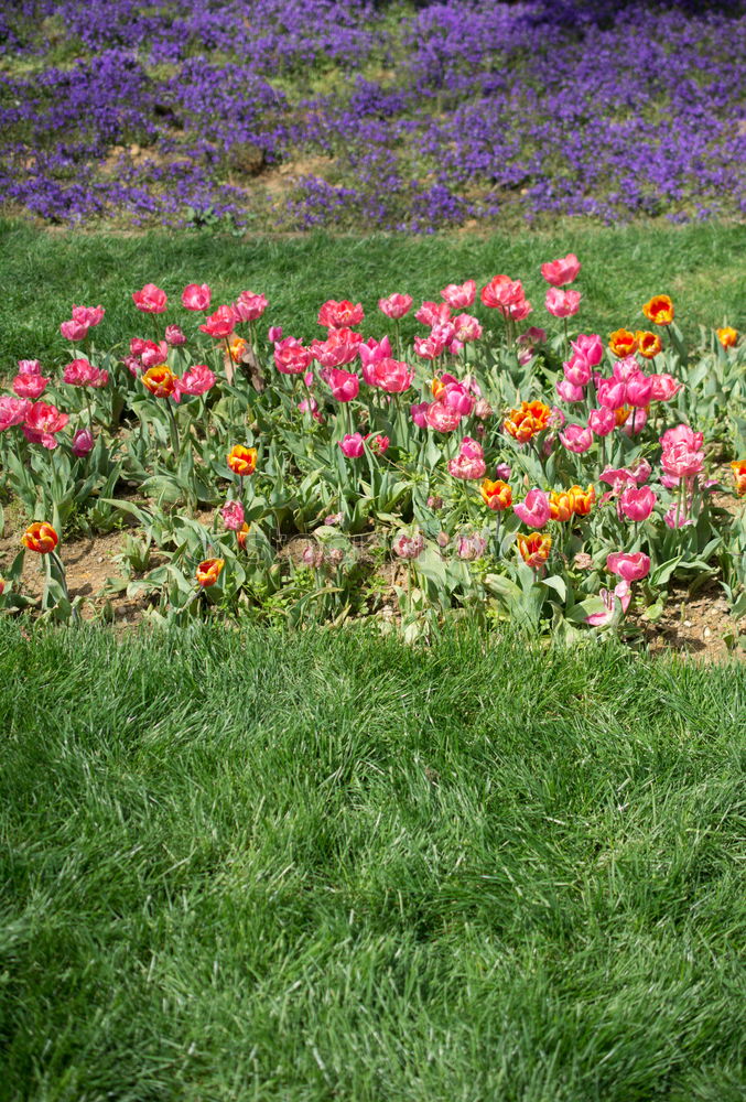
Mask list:
[[[743,665],[0,653],[3,1099],[744,1098]]]

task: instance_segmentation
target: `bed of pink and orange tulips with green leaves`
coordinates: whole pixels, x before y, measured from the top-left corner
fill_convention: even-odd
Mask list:
[[[66,530],[127,517],[122,588],[160,620],[376,615],[382,577],[410,638],[452,616],[616,631],[713,580],[739,617],[744,511],[723,501],[746,493],[746,462],[723,486],[707,454],[743,449],[743,344],[724,326],[689,356],[666,294],[640,327],[579,333],[580,269],[542,266],[553,332],[498,274],[422,303],[413,347],[403,292],[372,315],[325,302],[301,341],[267,327],[262,294],[216,307],[206,283],[176,303],[149,283],[132,300],[150,336],[123,359],[100,343],[104,307],[73,306],[67,365],[21,360],[0,398],[6,488],[36,518],[0,602],[33,603],[37,554],[42,611],[74,616]]]

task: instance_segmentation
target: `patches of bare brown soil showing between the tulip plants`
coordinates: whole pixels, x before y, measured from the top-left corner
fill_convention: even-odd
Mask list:
[[[7,571],[20,550],[23,525],[20,518],[8,510],[6,530],[0,536],[0,576]],[[212,519],[199,517],[203,522]],[[105,619],[122,627],[137,625],[149,605],[147,594],[137,598],[128,597],[111,582],[126,580],[126,571],[117,561],[122,553],[127,536],[137,536],[138,529],[110,532],[106,536],[86,536],[61,543],[57,552],[65,564],[71,598],[80,597],[80,615],[86,620]],[[364,542],[369,538],[364,538]],[[307,537],[293,537],[280,549],[280,561],[292,560],[301,564],[303,551],[315,541]],[[358,549],[365,559],[366,547]],[[158,565],[151,557],[150,569]],[[369,565],[372,569],[374,560]],[[398,562],[379,564],[376,576],[380,582],[378,614],[382,620],[397,618],[394,585],[406,585],[407,570]],[[33,598],[41,597],[44,584],[44,569],[41,557],[28,551],[21,577],[22,592]],[[661,616],[651,623],[645,614],[630,611],[627,623],[635,629],[652,653],[675,650],[694,656],[707,662],[725,661],[734,647],[737,648],[738,625],[728,615],[725,597],[716,582],[709,583],[694,597],[684,587],[674,587]],[[740,636],[743,638],[743,636]],[[737,649],[736,649],[736,652]]]

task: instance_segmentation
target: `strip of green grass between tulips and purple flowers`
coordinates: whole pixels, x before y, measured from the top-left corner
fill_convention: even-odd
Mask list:
[[[153,338],[155,328],[131,299],[143,283],[166,291],[173,309],[167,322],[195,326],[179,304],[187,283],[209,283],[213,303],[229,302],[244,290],[263,292],[270,307],[262,324],[282,325],[309,341],[322,335],[316,324],[326,299],[361,301],[366,334],[390,331],[377,311],[378,299],[407,292],[415,309],[424,299],[440,300],[450,282],[476,279],[482,285],[497,273],[520,278],[534,306],[531,323],[552,331],[558,323],[544,310],[543,261],[574,251],[583,270],[577,287],[583,304],[576,326],[606,336],[619,327],[647,326],[641,305],[666,292],[675,302],[677,321],[690,338],[699,326],[725,323],[743,328],[746,225],[721,223],[671,226],[667,223],[603,228],[564,219],[553,234],[436,235],[412,238],[377,235],[334,237],[258,236],[246,239],[209,233],[150,233],[143,236],[50,233],[0,220],[0,361],[10,372],[20,358],[39,358],[45,367],[69,359],[71,346],[60,334],[73,303],[107,311],[96,331],[105,349],[128,350],[132,336]],[[479,307],[482,310],[482,307]],[[424,333],[413,315],[407,336]],[[207,339],[207,338],[202,338]]]

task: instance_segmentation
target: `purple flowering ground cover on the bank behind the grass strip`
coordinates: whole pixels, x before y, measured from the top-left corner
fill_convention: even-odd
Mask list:
[[[746,11],[15,0],[6,213],[428,233],[746,209]]]

